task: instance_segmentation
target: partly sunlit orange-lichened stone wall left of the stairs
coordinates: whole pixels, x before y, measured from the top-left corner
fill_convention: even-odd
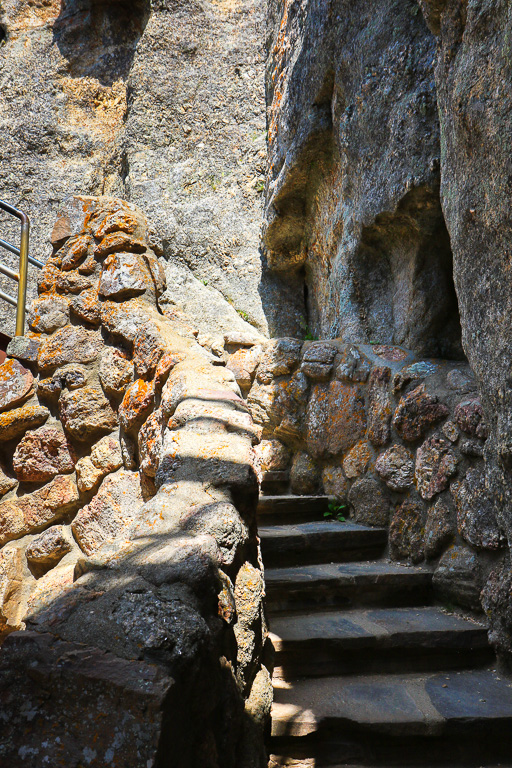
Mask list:
[[[53,246],[0,366],[0,763],[263,768],[260,430],[137,208]]]

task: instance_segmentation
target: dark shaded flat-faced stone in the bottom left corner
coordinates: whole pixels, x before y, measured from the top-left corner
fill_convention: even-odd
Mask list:
[[[151,765],[165,727],[166,706],[177,706],[175,682],[163,667],[51,634],[12,635],[0,665],[6,709],[0,761],[6,764],[19,762],[21,748],[41,765],[58,765],[63,754],[70,766],[100,768],[105,755],[112,765],[125,768]],[[21,747],[18,735],[26,730],[27,715],[20,702],[32,703],[38,723],[37,729],[28,729]],[[83,717],[84,712],[90,718]],[[178,734],[173,738],[179,743]]]

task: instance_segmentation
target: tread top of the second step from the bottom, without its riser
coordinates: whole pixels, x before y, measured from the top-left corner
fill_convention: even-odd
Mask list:
[[[446,613],[436,606],[420,608],[368,608],[276,616],[271,638],[277,651],[291,643],[313,650],[318,641],[336,642],[340,648],[393,645],[466,643],[487,646],[487,630],[478,622]]]

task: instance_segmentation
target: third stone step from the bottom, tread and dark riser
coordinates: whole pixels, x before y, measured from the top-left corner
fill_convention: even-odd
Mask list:
[[[383,560],[265,570],[270,612],[328,606],[425,605],[432,597],[432,573],[420,566]]]

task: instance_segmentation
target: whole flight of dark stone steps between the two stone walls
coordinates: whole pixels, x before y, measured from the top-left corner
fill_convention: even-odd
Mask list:
[[[385,530],[327,506],[260,499],[270,768],[512,765],[512,684],[485,627],[433,604],[428,569],[389,563]]]

